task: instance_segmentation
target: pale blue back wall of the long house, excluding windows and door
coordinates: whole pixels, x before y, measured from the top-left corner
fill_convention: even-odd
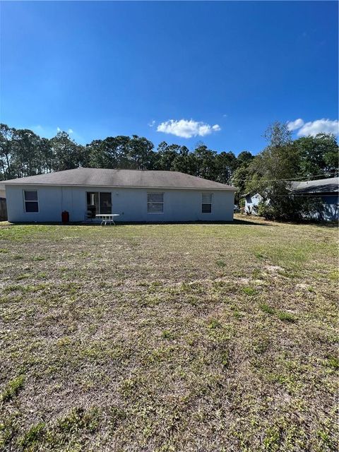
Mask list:
[[[37,190],[39,212],[25,213],[23,190]],[[59,222],[61,212],[67,210],[71,222],[85,220],[86,192],[112,193],[112,213],[119,213],[123,222],[172,222],[172,221],[232,221],[234,191],[210,191],[213,193],[212,213],[201,213],[201,194],[207,190],[176,189],[112,189],[100,186],[6,186],[8,221],[10,222]],[[147,194],[164,194],[164,212],[147,212]]]

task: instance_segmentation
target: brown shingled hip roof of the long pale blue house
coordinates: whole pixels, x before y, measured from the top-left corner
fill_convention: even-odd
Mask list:
[[[148,189],[231,190],[220,184],[177,171],[77,168],[5,181],[6,185],[107,186]]]

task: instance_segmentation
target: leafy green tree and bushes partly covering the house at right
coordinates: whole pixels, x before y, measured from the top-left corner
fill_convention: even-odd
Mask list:
[[[326,166],[325,160],[335,149],[338,160],[335,138],[322,134],[293,142],[286,125],[279,123],[270,126],[265,136],[268,146],[249,165],[252,177],[245,187],[261,194],[258,215],[267,220],[303,220],[314,211],[321,212],[321,199],[292,194],[290,181],[312,174],[333,175],[333,167]]]

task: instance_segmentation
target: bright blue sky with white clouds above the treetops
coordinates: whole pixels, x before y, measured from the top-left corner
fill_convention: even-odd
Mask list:
[[[338,3],[1,2],[1,121],[239,153],[338,128]],[[298,120],[298,121],[296,121]],[[293,121],[293,122],[292,122]],[[295,122],[296,121],[296,122]]]

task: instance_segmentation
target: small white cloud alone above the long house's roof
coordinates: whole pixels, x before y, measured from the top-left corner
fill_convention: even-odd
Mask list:
[[[172,133],[182,138],[192,138],[192,136],[206,136],[212,132],[220,131],[220,126],[215,124],[210,126],[201,121],[190,119],[169,119],[157,126],[157,132]]]

